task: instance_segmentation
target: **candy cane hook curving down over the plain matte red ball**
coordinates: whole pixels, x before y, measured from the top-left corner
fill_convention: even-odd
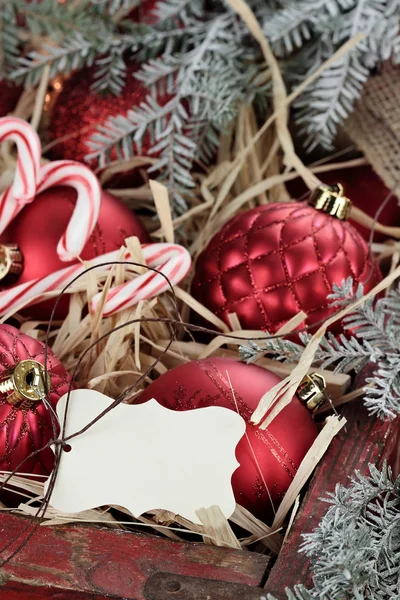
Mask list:
[[[58,160],[40,169],[37,194],[57,185],[73,187],[78,197],[67,229],[57,245],[60,260],[68,262],[82,252],[97,223],[101,206],[101,186],[92,171],[72,160]]]

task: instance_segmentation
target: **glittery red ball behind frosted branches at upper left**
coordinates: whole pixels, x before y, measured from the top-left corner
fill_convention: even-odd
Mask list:
[[[52,158],[77,160],[96,167],[96,161],[88,163],[85,156],[92,152],[87,142],[97,125],[109,117],[126,114],[128,110],[139,106],[148,95],[148,90],[133,77],[136,70],[136,66],[128,69],[120,96],[110,93],[100,95],[91,90],[92,69],[78,71],[64,82],[50,115],[49,140],[60,140],[51,149]],[[148,142],[144,140],[141,154],[146,155],[148,149]],[[116,160],[117,155],[114,153],[111,158]]]

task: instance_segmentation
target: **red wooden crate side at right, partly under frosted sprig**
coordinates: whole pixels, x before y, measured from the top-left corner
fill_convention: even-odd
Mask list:
[[[265,590],[276,598],[285,599],[285,587],[296,583],[310,583],[308,559],[298,552],[302,533],[312,531],[327,510],[320,498],[332,492],[336,483],[348,483],[357,469],[367,473],[368,464],[381,465],[390,459],[399,468],[399,419],[384,423],[367,415],[362,401],[343,410],[348,424],[333,440],[328,452],[318,466],[286,544],[265,585]]]

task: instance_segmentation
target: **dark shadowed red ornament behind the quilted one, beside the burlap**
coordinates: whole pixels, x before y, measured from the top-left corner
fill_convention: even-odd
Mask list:
[[[346,196],[351,198],[354,206],[360,208],[372,218],[375,218],[379,207],[390,193],[390,190],[385,186],[382,179],[378,177],[369,165],[343,169],[341,171],[328,171],[324,173],[323,177],[326,185],[333,185],[339,181],[344,188]],[[300,198],[307,192],[304,183],[298,179],[289,182],[287,187],[294,198]],[[396,196],[393,196],[386,204],[379,215],[378,221],[382,225],[400,225],[400,211]],[[370,230],[356,222],[353,223],[353,226],[368,242]],[[375,242],[384,241],[386,237],[382,233],[374,233]]]

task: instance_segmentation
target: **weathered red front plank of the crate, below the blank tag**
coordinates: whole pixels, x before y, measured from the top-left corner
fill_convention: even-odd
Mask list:
[[[26,522],[0,514],[0,548]],[[261,586],[267,565],[267,557],[240,550],[90,526],[40,527],[0,570],[0,589],[2,600],[15,582],[142,600],[147,579],[159,571]]]

